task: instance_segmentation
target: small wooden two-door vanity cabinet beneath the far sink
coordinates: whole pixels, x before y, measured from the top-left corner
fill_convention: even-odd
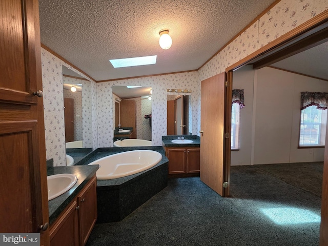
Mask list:
[[[169,159],[169,174],[191,174],[200,172],[200,148],[166,147]]]

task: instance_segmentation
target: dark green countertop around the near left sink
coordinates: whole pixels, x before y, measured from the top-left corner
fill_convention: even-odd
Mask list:
[[[84,188],[86,183],[96,174],[99,166],[69,166],[69,167],[49,167],[47,168],[47,176],[71,173],[77,177],[77,182],[69,191],[50,200],[49,204],[49,223],[53,223],[61,212],[68,206],[80,190]]]

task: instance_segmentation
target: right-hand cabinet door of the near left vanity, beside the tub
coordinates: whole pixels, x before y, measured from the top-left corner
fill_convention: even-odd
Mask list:
[[[80,245],[85,245],[97,220],[96,177],[81,191],[79,203],[79,237]]]

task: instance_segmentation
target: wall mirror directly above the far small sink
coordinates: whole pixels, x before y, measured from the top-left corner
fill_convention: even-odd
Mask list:
[[[191,95],[167,95],[167,135],[192,134]]]

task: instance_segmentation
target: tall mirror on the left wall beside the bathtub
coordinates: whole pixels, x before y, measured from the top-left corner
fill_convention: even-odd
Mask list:
[[[90,81],[63,66],[63,85],[66,148],[92,148]]]

